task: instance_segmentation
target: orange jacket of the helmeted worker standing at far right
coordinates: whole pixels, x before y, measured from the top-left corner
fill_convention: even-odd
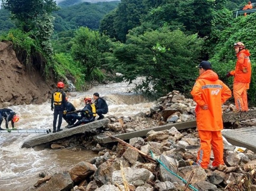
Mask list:
[[[236,57],[237,57],[236,68],[235,70],[230,72],[232,76],[235,76],[234,83],[235,82],[244,82],[244,83],[251,82],[251,61],[249,56],[250,56],[250,52],[247,49],[243,49],[236,54]]]

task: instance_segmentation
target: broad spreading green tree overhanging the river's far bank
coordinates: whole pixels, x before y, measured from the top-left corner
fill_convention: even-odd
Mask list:
[[[136,90],[149,96],[162,96],[173,89],[188,92],[197,76],[195,66],[202,43],[197,35],[185,35],[180,30],[127,35],[126,44],[114,49],[114,66],[124,80],[145,77]]]

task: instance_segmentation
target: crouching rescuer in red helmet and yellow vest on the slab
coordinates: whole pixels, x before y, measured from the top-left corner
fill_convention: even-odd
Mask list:
[[[96,117],[96,107],[92,103],[92,99],[89,97],[86,97],[84,99],[85,107],[82,110],[77,110],[77,113],[81,113],[81,120],[76,122],[74,125],[68,126],[67,128],[72,128],[81,124],[86,124],[93,122]]]

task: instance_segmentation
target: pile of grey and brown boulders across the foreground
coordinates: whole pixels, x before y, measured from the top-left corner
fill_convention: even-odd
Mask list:
[[[241,188],[245,180],[249,180],[246,178],[249,172],[256,167],[256,155],[252,151],[239,152],[237,147],[231,145],[224,147],[225,165],[218,168],[210,165],[206,170],[191,165],[191,162],[196,161],[200,144],[198,132],[193,129],[179,132],[172,127],[160,132],[150,131],[145,140],[139,137],[132,138],[129,143],[148,155],[151,150],[168,169],[185,180],[189,180],[193,173],[190,183],[198,190],[223,190],[226,186],[240,190],[232,186],[239,185]],[[104,151],[104,155],[93,158],[90,163],[80,162],[68,172],[45,176],[34,185],[33,190],[124,190],[120,163],[123,165],[131,191],[182,191],[186,187],[164,166],[149,162],[130,147],[124,147],[119,143],[112,150]],[[250,179],[250,183],[252,180]]]

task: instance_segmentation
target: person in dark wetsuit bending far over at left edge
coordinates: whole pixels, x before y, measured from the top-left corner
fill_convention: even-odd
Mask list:
[[[20,119],[20,117],[13,110],[8,109],[8,108],[0,109],[0,130],[4,130],[1,128],[3,118],[5,118],[5,128],[9,129],[8,123],[9,123],[9,121],[11,121],[11,126],[12,126],[12,129],[14,129],[14,130],[15,130],[14,123],[18,122]]]

